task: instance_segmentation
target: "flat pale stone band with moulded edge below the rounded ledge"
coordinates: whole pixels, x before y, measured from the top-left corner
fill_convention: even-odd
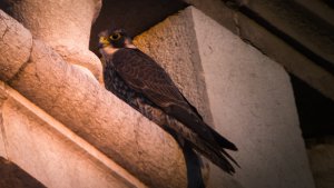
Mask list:
[[[119,167],[100,164],[98,155],[92,156],[80,138],[63,131],[63,125],[8,90],[1,118],[10,161],[47,187],[144,187],[136,178],[114,171]]]

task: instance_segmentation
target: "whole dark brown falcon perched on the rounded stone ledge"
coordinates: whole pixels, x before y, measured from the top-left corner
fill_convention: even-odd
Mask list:
[[[180,145],[190,145],[228,174],[238,164],[224,150],[236,146],[204,122],[197,109],[183,96],[168,73],[137,49],[124,29],[99,33],[106,89],[148,119],[173,131]]]

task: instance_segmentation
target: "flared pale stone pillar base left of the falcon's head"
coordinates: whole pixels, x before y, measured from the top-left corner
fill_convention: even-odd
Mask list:
[[[67,62],[89,69],[101,80],[100,61],[88,50],[90,27],[101,0],[10,0],[10,6],[12,17],[35,38],[50,44]]]

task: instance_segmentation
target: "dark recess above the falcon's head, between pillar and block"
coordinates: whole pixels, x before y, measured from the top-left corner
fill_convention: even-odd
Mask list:
[[[91,27],[89,49],[99,56],[97,36],[102,30],[124,28],[135,37],[186,7],[180,0],[104,0]]]

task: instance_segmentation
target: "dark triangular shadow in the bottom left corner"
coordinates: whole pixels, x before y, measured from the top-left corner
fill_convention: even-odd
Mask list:
[[[1,188],[43,188],[41,182],[27,174],[16,164],[0,157],[0,187]]]

